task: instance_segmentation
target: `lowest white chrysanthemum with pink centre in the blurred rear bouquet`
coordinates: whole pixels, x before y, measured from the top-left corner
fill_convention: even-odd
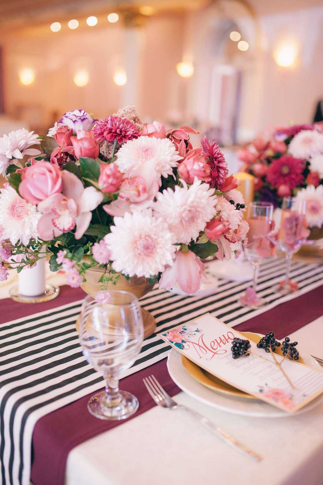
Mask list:
[[[297,192],[295,204],[299,201],[306,201],[305,215],[309,227],[321,227],[323,224],[323,185],[314,187],[308,185],[305,189]]]

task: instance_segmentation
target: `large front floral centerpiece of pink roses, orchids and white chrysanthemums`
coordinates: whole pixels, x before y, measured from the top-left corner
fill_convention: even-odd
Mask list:
[[[248,225],[219,146],[204,137],[193,149],[192,133],[143,123],[127,106],[104,120],[65,113],[47,136],[0,138],[0,280],[50,256],[72,287],[99,267],[103,287],[136,275],[196,292],[202,259],[231,258]]]

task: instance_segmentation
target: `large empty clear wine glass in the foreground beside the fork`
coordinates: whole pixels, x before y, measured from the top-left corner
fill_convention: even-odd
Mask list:
[[[106,380],[106,388],[88,402],[101,420],[123,420],[138,409],[138,399],[119,390],[121,374],[136,360],[143,341],[141,308],[128,291],[96,291],[82,304],[79,338],[83,354]]]

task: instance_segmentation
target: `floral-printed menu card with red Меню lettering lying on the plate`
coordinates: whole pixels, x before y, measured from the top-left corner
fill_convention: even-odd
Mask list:
[[[245,337],[210,313],[158,337],[222,381],[289,413],[323,392],[323,371],[287,358],[278,366],[271,353],[258,349],[252,341],[250,355],[233,359],[232,340]],[[283,358],[275,356],[277,362]]]

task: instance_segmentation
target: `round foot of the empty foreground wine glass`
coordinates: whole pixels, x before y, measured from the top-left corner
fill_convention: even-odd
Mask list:
[[[113,407],[109,407],[107,403],[107,392],[100,391],[94,394],[88,402],[88,410],[90,413],[99,418],[99,420],[125,420],[132,416],[138,409],[138,399],[127,391],[120,391],[120,401]]]

